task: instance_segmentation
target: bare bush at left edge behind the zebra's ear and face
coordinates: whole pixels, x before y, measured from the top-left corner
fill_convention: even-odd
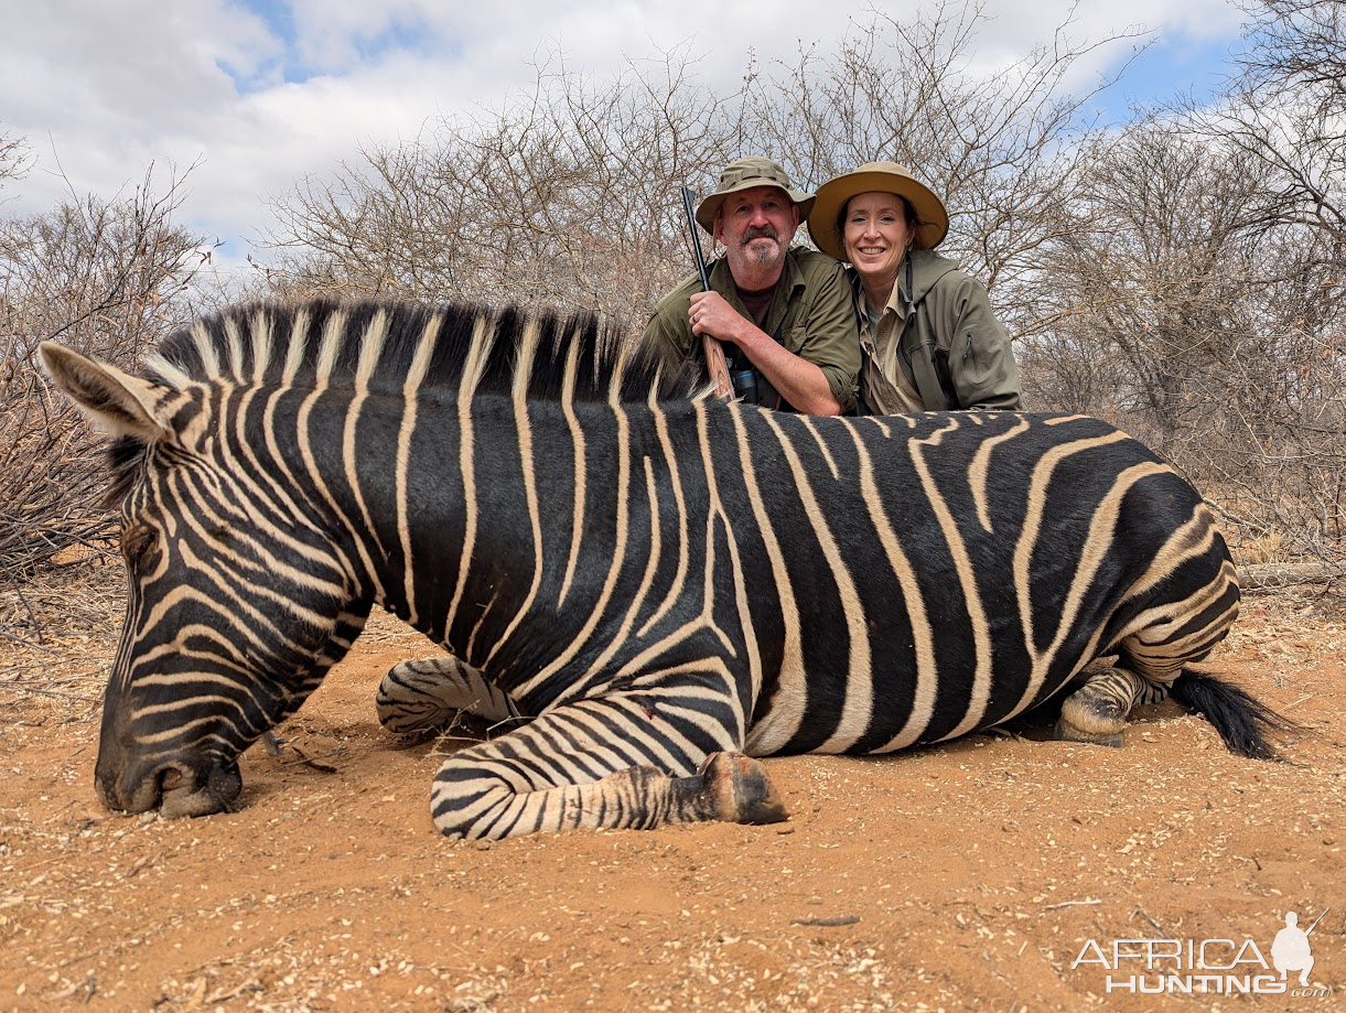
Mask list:
[[[104,538],[113,518],[102,441],[46,385],[38,344],[59,339],[122,369],[184,322],[205,254],[172,223],[178,184],[87,198],[0,223],[0,572],[22,580],[62,549]]]

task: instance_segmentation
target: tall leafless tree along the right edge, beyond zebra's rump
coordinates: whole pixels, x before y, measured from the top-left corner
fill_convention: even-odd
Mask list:
[[[1257,340],[1230,370],[1230,441],[1205,467],[1230,513],[1291,554],[1346,560],[1346,7],[1248,0],[1226,101],[1182,108],[1211,148],[1257,167]],[[1242,439],[1234,439],[1234,435]]]

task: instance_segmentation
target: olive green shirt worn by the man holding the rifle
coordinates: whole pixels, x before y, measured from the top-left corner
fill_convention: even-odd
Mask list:
[[[742,316],[748,317],[730,265],[723,257],[711,264],[709,276],[711,288],[724,296]],[[692,274],[664,296],[645,326],[642,340],[654,344],[674,362],[700,361],[701,339],[692,334],[692,324],[686,319],[692,293],[700,291],[700,277]],[[840,264],[825,253],[805,246],[790,248],[762,330],[783,344],[786,351],[822,370],[843,412],[855,406],[860,346],[855,336],[851,283]],[[727,351],[734,351],[732,344]]]

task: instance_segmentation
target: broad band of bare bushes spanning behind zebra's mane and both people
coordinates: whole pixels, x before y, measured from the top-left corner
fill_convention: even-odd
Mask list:
[[[975,79],[961,67],[985,22],[976,7],[914,24],[875,15],[840,61],[808,47],[793,65],[750,61],[731,96],[700,81],[685,46],[607,82],[553,55],[498,112],[306,180],[277,207],[281,287],[587,307],[634,331],[692,269],[684,182],[707,192],[727,161],[769,153],[813,187],[886,157],[948,194],[949,250],[1032,330],[1035,289],[1019,283],[1058,227],[1070,152],[1093,129],[1093,89],[1070,94],[1063,81],[1121,36],[1058,35]]]

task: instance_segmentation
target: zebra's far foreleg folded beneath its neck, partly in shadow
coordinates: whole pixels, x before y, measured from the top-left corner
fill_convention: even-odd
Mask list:
[[[462,716],[487,726],[518,717],[507,696],[452,655],[394,665],[374,704],[378,722],[394,735],[437,732]]]

